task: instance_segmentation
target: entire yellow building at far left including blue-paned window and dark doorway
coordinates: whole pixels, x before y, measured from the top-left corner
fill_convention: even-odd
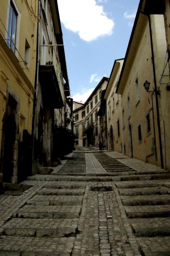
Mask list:
[[[36,0],[0,5],[0,181],[17,183],[31,169],[39,19]]]

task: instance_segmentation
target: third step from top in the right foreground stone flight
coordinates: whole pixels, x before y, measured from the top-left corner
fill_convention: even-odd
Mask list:
[[[121,196],[125,206],[170,204],[170,195]]]

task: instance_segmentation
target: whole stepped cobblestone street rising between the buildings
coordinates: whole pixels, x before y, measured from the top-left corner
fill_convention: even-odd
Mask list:
[[[0,195],[0,256],[170,256],[167,171],[95,148],[52,169]]]

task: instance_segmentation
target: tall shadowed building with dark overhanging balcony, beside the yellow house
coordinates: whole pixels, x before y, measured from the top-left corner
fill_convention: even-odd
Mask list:
[[[57,1],[38,1],[37,82],[34,97],[32,174],[55,161],[55,128],[70,127],[71,100]]]

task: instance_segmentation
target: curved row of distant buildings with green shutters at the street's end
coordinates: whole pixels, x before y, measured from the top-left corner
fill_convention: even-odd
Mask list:
[[[74,134],[76,135],[76,145],[98,146],[102,139],[100,134],[99,117],[97,113],[100,108],[102,90],[105,90],[108,78],[103,77],[87,101],[82,105],[74,103]],[[104,141],[105,142],[105,141]]]

